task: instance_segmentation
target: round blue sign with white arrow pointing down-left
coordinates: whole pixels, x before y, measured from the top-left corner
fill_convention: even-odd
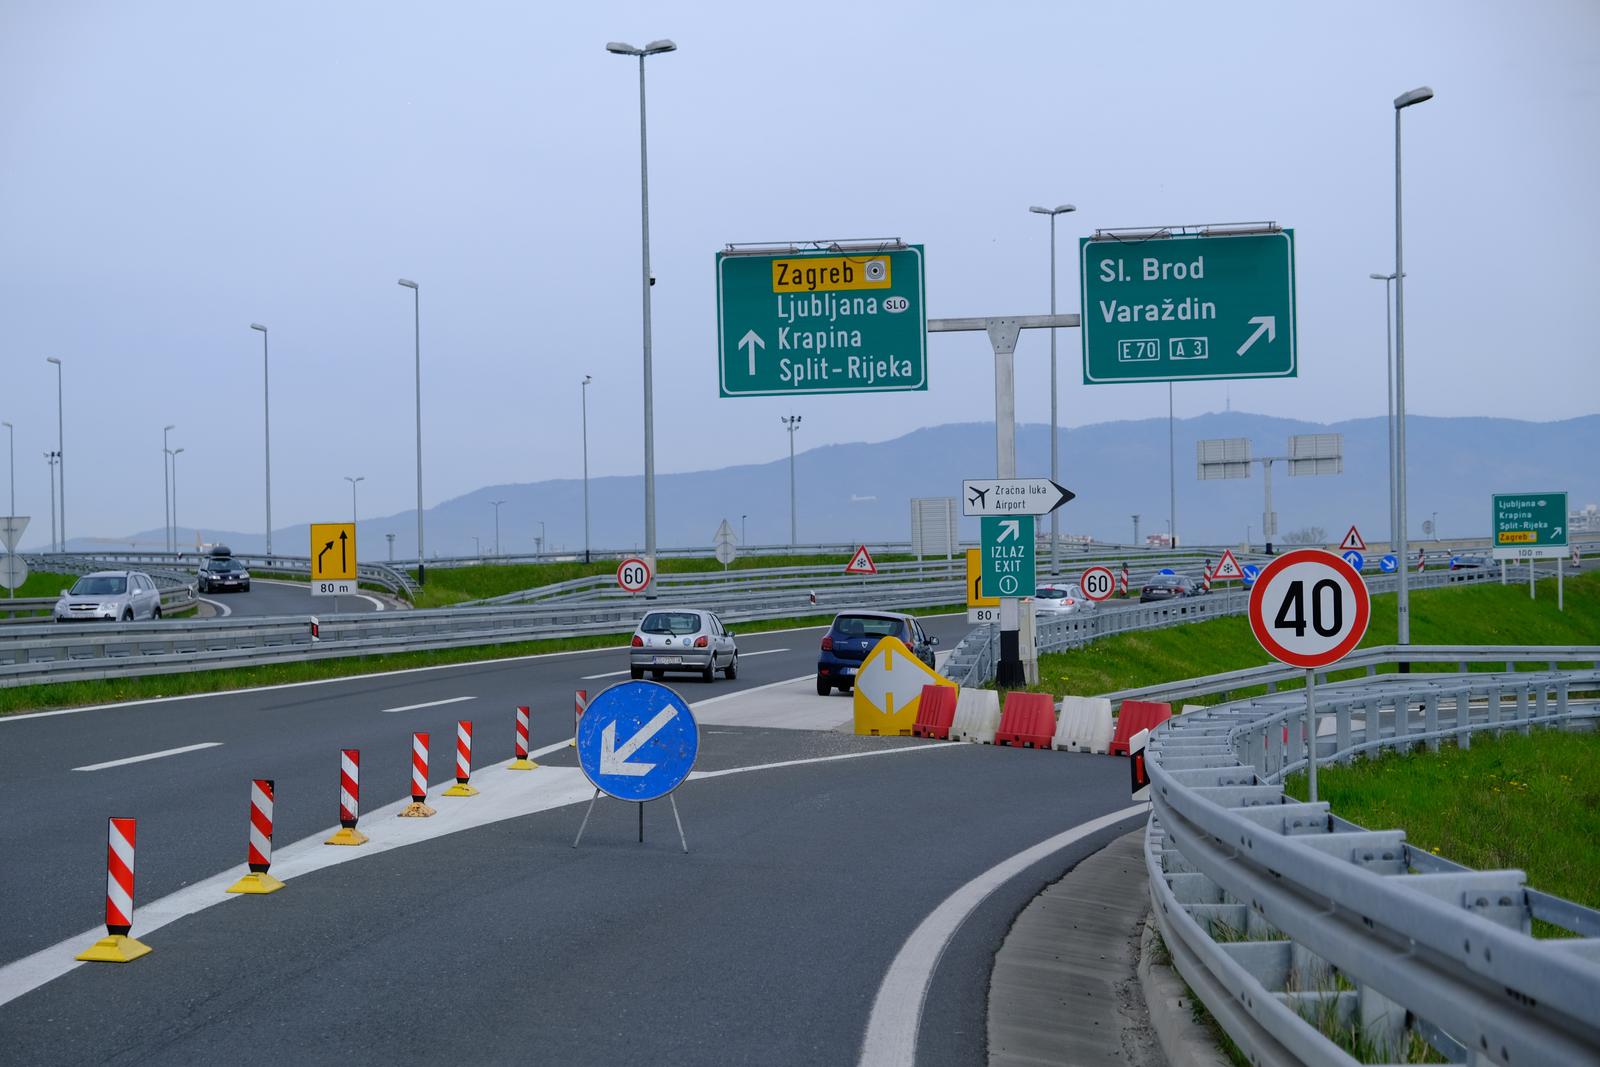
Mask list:
[[[699,752],[694,713],[656,681],[619,681],[578,720],[578,765],[618,800],[659,800],[690,776]]]

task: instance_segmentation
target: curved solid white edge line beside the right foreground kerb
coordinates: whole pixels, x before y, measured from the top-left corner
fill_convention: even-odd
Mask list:
[[[920,749],[914,749],[914,752],[917,750]],[[917,1062],[917,1032],[922,1029],[922,1008],[928,998],[933,973],[955,931],[978,910],[978,905],[989,899],[989,894],[1051,853],[1117,825],[1123,819],[1146,814],[1149,809],[1147,803],[1133,805],[1080,822],[1070,830],[1062,830],[1010,859],[1000,861],[944,897],[939,907],[933,909],[928,918],[922,920],[910,933],[883,974],[878,995],[872,1001],[872,1014],[867,1017],[867,1035],[861,1041],[861,1065],[914,1067]]]

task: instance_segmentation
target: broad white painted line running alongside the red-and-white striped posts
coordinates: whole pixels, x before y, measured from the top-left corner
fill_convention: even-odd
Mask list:
[[[538,758],[565,747],[566,741],[557,741],[555,744],[544,745],[528,755]],[[882,752],[853,752],[846,755],[938,752],[939,749],[955,747],[958,745],[914,745],[907,749],[883,749]],[[488,768],[474,769],[472,779],[474,784],[480,787],[480,795],[474,797],[470,803],[454,803],[453,800],[440,798],[440,793],[448,789],[446,782],[440,782],[430,789],[429,792],[434,797],[434,806],[438,813],[432,819],[397,819],[395,816],[398,816],[400,811],[411,803],[410,797],[397,800],[392,805],[384,805],[376,811],[363,813],[362,832],[368,835],[368,843],[362,848],[325,848],[323,840],[334,829],[328,827],[320,833],[312,833],[310,837],[301,838],[286,848],[274,849],[272,873],[283,881],[290,881],[299,875],[309,875],[334,864],[347,864],[350,861],[362,859],[363,856],[376,856],[392,848],[418,845],[435,837],[445,837],[446,833],[456,833],[459,830],[472,830],[480,825],[490,825],[491,822],[502,822],[504,819],[515,819],[539,811],[586,803],[594,797],[594,785],[589,784],[589,779],[584,777],[584,773],[578,768],[542,766],[538,774],[520,774],[507,771],[506,768],[509,763],[510,760],[506,760]],[[1146,808],[1146,805],[1141,805],[1141,809],[1142,808]],[[243,870],[245,867],[240,864],[238,867],[224,870],[211,878],[197,881],[190,886],[178,889],[176,893],[170,893],[158,901],[152,901],[149,904],[136,902],[133,913],[133,934],[146,937],[168,923],[174,923],[208,907],[238,899],[237,894],[227,893],[227,886],[237,881]],[[104,926],[94,926],[91,929],[85,929],[75,937],[67,937],[66,941],[50,945],[48,949],[40,949],[34,955],[22,957],[21,960],[13,960],[11,963],[0,966],[0,1005],[6,1005],[18,997],[38,989],[45,982],[51,982],[75,969],[78,961],[74,960],[74,955],[82,952],[86,945],[99,941],[104,934]]]

